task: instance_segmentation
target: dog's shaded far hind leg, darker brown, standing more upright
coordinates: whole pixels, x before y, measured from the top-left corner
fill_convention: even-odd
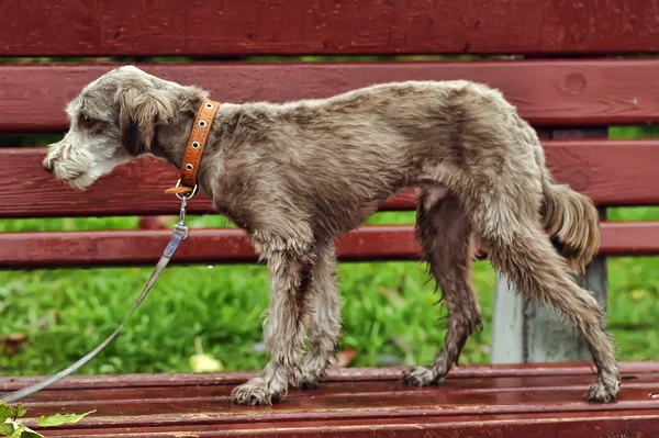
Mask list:
[[[481,327],[481,310],[471,284],[473,242],[471,224],[458,198],[443,189],[424,188],[418,198],[416,235],[448,310],[444,346],[432,367],[417,367],[403,374],[412,385],[435,383],[457,363],[474,328]]]

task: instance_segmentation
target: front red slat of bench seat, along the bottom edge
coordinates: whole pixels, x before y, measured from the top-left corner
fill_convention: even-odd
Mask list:
[[[142,428],[90,428],[44,430],[48,436],[93,436],[94,438],[155,438],[170,437],[268,437],[268,438],[428,438],[428,437],[470,437],[470,438],[601,438],[625,437],[621,431],[634,430],[637,437],[654,437],[659,430],[659,411],[616,411],[613,413],[593,413],[584,417],[576,414],[522,414],[483,416],[427,416],[420,418],[378,418],[353,419],[343,422],[308,420],[298,423],[263,423],[258,425],[194,425],[183,428],[150,426]],[[321,431],[322,435],[319,435]],[[146,435],[145,435],[146,434]],[[605,434],[605,435],[600,435]],[[628,436],[628,435],[627,435]]]

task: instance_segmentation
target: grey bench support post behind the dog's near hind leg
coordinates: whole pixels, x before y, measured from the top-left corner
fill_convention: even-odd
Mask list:
[[[607,130],[552,130],[550,138],[606,137]],[[601,220],[606,210],[600,209]],[[595,258],[583,277],[581,287],[591,291],[600,305],[606,306],[606,259]],[[563,323],[552,310],[525,303],[522,295],[496,273],[496,290],[492,322],[492,363],[589,361],[590,352],[583,339],[574,336],[571,325]]]

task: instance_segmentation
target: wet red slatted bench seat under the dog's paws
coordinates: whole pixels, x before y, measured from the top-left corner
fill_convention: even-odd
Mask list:
[[[622,363],[608,405],[581,400],[590,363],[474,366],[439,385],[409,388],[403,368],[332,370],[316,390],[275,406],[236,406],[231,390],[253,372],[71,377],[26,398],[29,417],[97,409],[48,436],[94,437],[655,437],[659,362]],[[0,379],[0,392],[34,378]],[[30,417],[30,415],[32,417]],[[185,435],[191,434],[191,435]],[[466,434],[466,435],[456,435]]]

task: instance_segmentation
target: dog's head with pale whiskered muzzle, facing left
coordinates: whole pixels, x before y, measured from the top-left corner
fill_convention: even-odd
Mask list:
[[[44,169],[85,190],[116,166],[149,153],[156,126],[174,115],[175,87],[133,66],[104,74],[67,104],[69,131],[48,146]]]

